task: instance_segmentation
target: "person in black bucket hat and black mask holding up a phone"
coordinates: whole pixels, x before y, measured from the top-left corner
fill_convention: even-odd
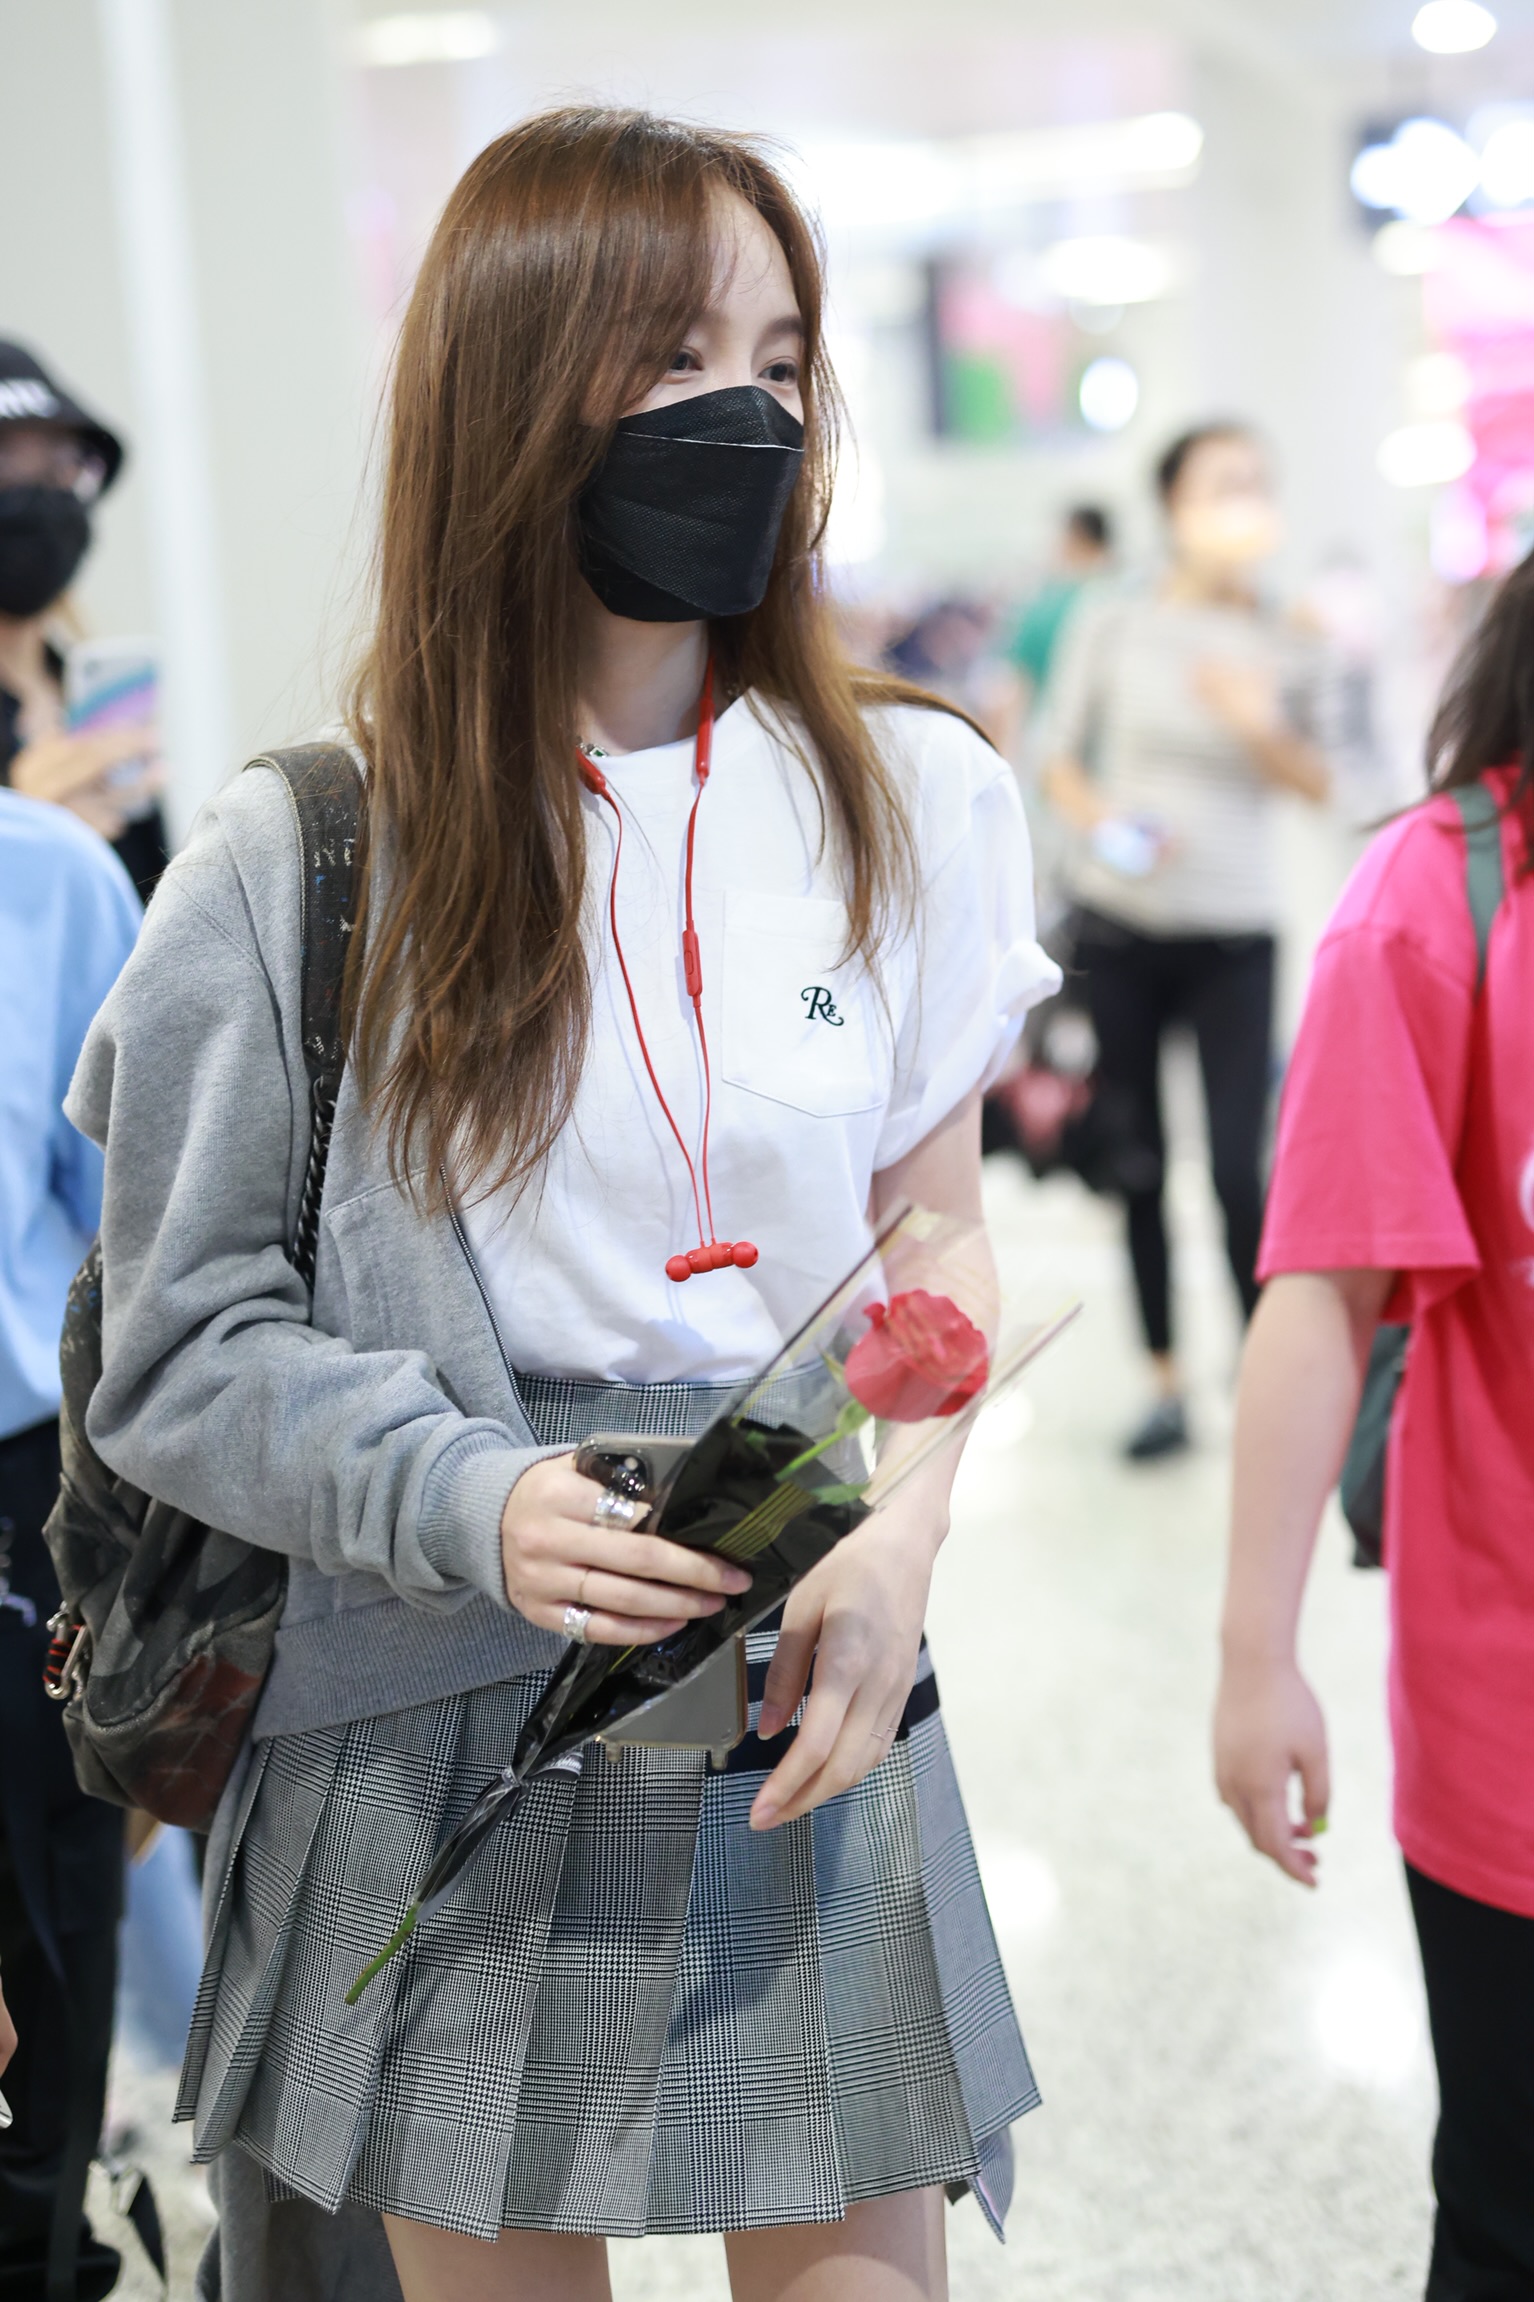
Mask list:
[[[67,592],[90,550],[90,506],[122,442],[18,343],[0,343],[0,783],[51,799],[111,840],[141,898],[166,868],[152,727],[71,730]]]

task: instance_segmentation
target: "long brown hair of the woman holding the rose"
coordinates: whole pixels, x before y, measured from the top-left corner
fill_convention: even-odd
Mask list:
[[[848,951],[878,965],[914,900],[908,817],[861,709],[917,698],[848,663],[820,571],[836,384],[813,230],[744,138],[633,110],[527,120],[472,161],[415,283],[352,709],[369,838],[350,1043],[392,1169],[428,1206],[468,1179],[527,1176],[576,1093],[590,1024],[576,497],[707,304],[721,191],[788,258],[806,453],[762,605],[712,631],[716,677],[802,732]]]

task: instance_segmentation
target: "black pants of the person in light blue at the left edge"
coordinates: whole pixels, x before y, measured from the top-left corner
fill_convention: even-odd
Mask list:
[[[0,2132],[0,2302],[94,2302],[117,2281],[81,2198],[113,2040],[122,1814],[76,1789],[41,1690],[58,1607],[41,1522],[55,1494],[58,1423],[0,1439],[0,1552],[25,1602],[0,1600],[0,1975],[21,2035],[0,2081],[16,2118]]]

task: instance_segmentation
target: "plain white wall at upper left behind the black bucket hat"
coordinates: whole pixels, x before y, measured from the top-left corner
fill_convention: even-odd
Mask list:
[[[115,7],[131,37],[145,12],[164,9],[205,456],[164,405],[145,405],[166,380],[134,343],[143,297],[129,306],[124,285],[122,83],[111,74],[122,44],[104,44],[99,16]],[[182,502],[200,490],[212,532],[200,610],[203,628],[223,635],[217,711],[168,716],[182,737],[170,767],[184,829],[240,757],[334,709],[371,414],[345,237],[339,30],[327,0],[0,0],[0,334],[35,343],[129,440],[81,605],[101,633],[159,631],[173,693],[196,670],[175,658],[189,624],[154,550],[177,488]],[[157,251],[136,239],[129,258],[143,267]],[[214,725],[217,741],[198,741]]]

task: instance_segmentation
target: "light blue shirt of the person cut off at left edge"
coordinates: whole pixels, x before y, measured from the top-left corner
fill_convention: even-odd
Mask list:
[[[58,1413],[64,1296],[101,1220],[64,1089],[141,918],[106,840],[0,787],[0,1439]]]

